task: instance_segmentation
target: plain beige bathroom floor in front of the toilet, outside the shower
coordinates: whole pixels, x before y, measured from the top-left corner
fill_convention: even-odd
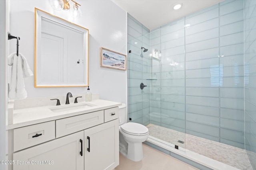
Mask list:
[[[198,170],[168,154],[143,145],[144,158],[134,162],[120,154],[119,165],[114,170]]]

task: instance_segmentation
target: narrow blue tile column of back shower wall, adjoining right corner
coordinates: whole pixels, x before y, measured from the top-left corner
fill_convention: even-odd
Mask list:
[[[244,148],[244,120],[234,119],[234,113],[244,111],[243,12],[242,0],[220,4],[220,64],[223,66],[223,86],[220,87],[220,142],[240,148]],[[231,29],[230,33],[228,27],[234,26],[236,28]],[[226,83],[227,81],[230,82]],[[230,118],[224,118],[227,109],[233,112]]]

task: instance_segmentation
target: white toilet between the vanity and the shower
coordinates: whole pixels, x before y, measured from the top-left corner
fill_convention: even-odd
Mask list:
[[[119,152],[138,162],[143,158],[142,142],[148,139],[148,128],[139,123],[126,121],[126,104],[119,106]]]

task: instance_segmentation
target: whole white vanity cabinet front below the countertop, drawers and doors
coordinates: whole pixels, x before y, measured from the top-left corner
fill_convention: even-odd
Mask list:
[[[20,127],[14,132],[13,160],[18,162],[13,170],[113,170],[119,164],[118,107]],[[29,138],[39,133],[42,135]],[[19,139],[24,141],[19,143]]]

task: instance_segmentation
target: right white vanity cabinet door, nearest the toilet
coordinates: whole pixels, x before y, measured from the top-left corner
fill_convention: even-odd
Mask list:
[[[119,164],[119,121],[84,130],[84,170],[113,170]]]

